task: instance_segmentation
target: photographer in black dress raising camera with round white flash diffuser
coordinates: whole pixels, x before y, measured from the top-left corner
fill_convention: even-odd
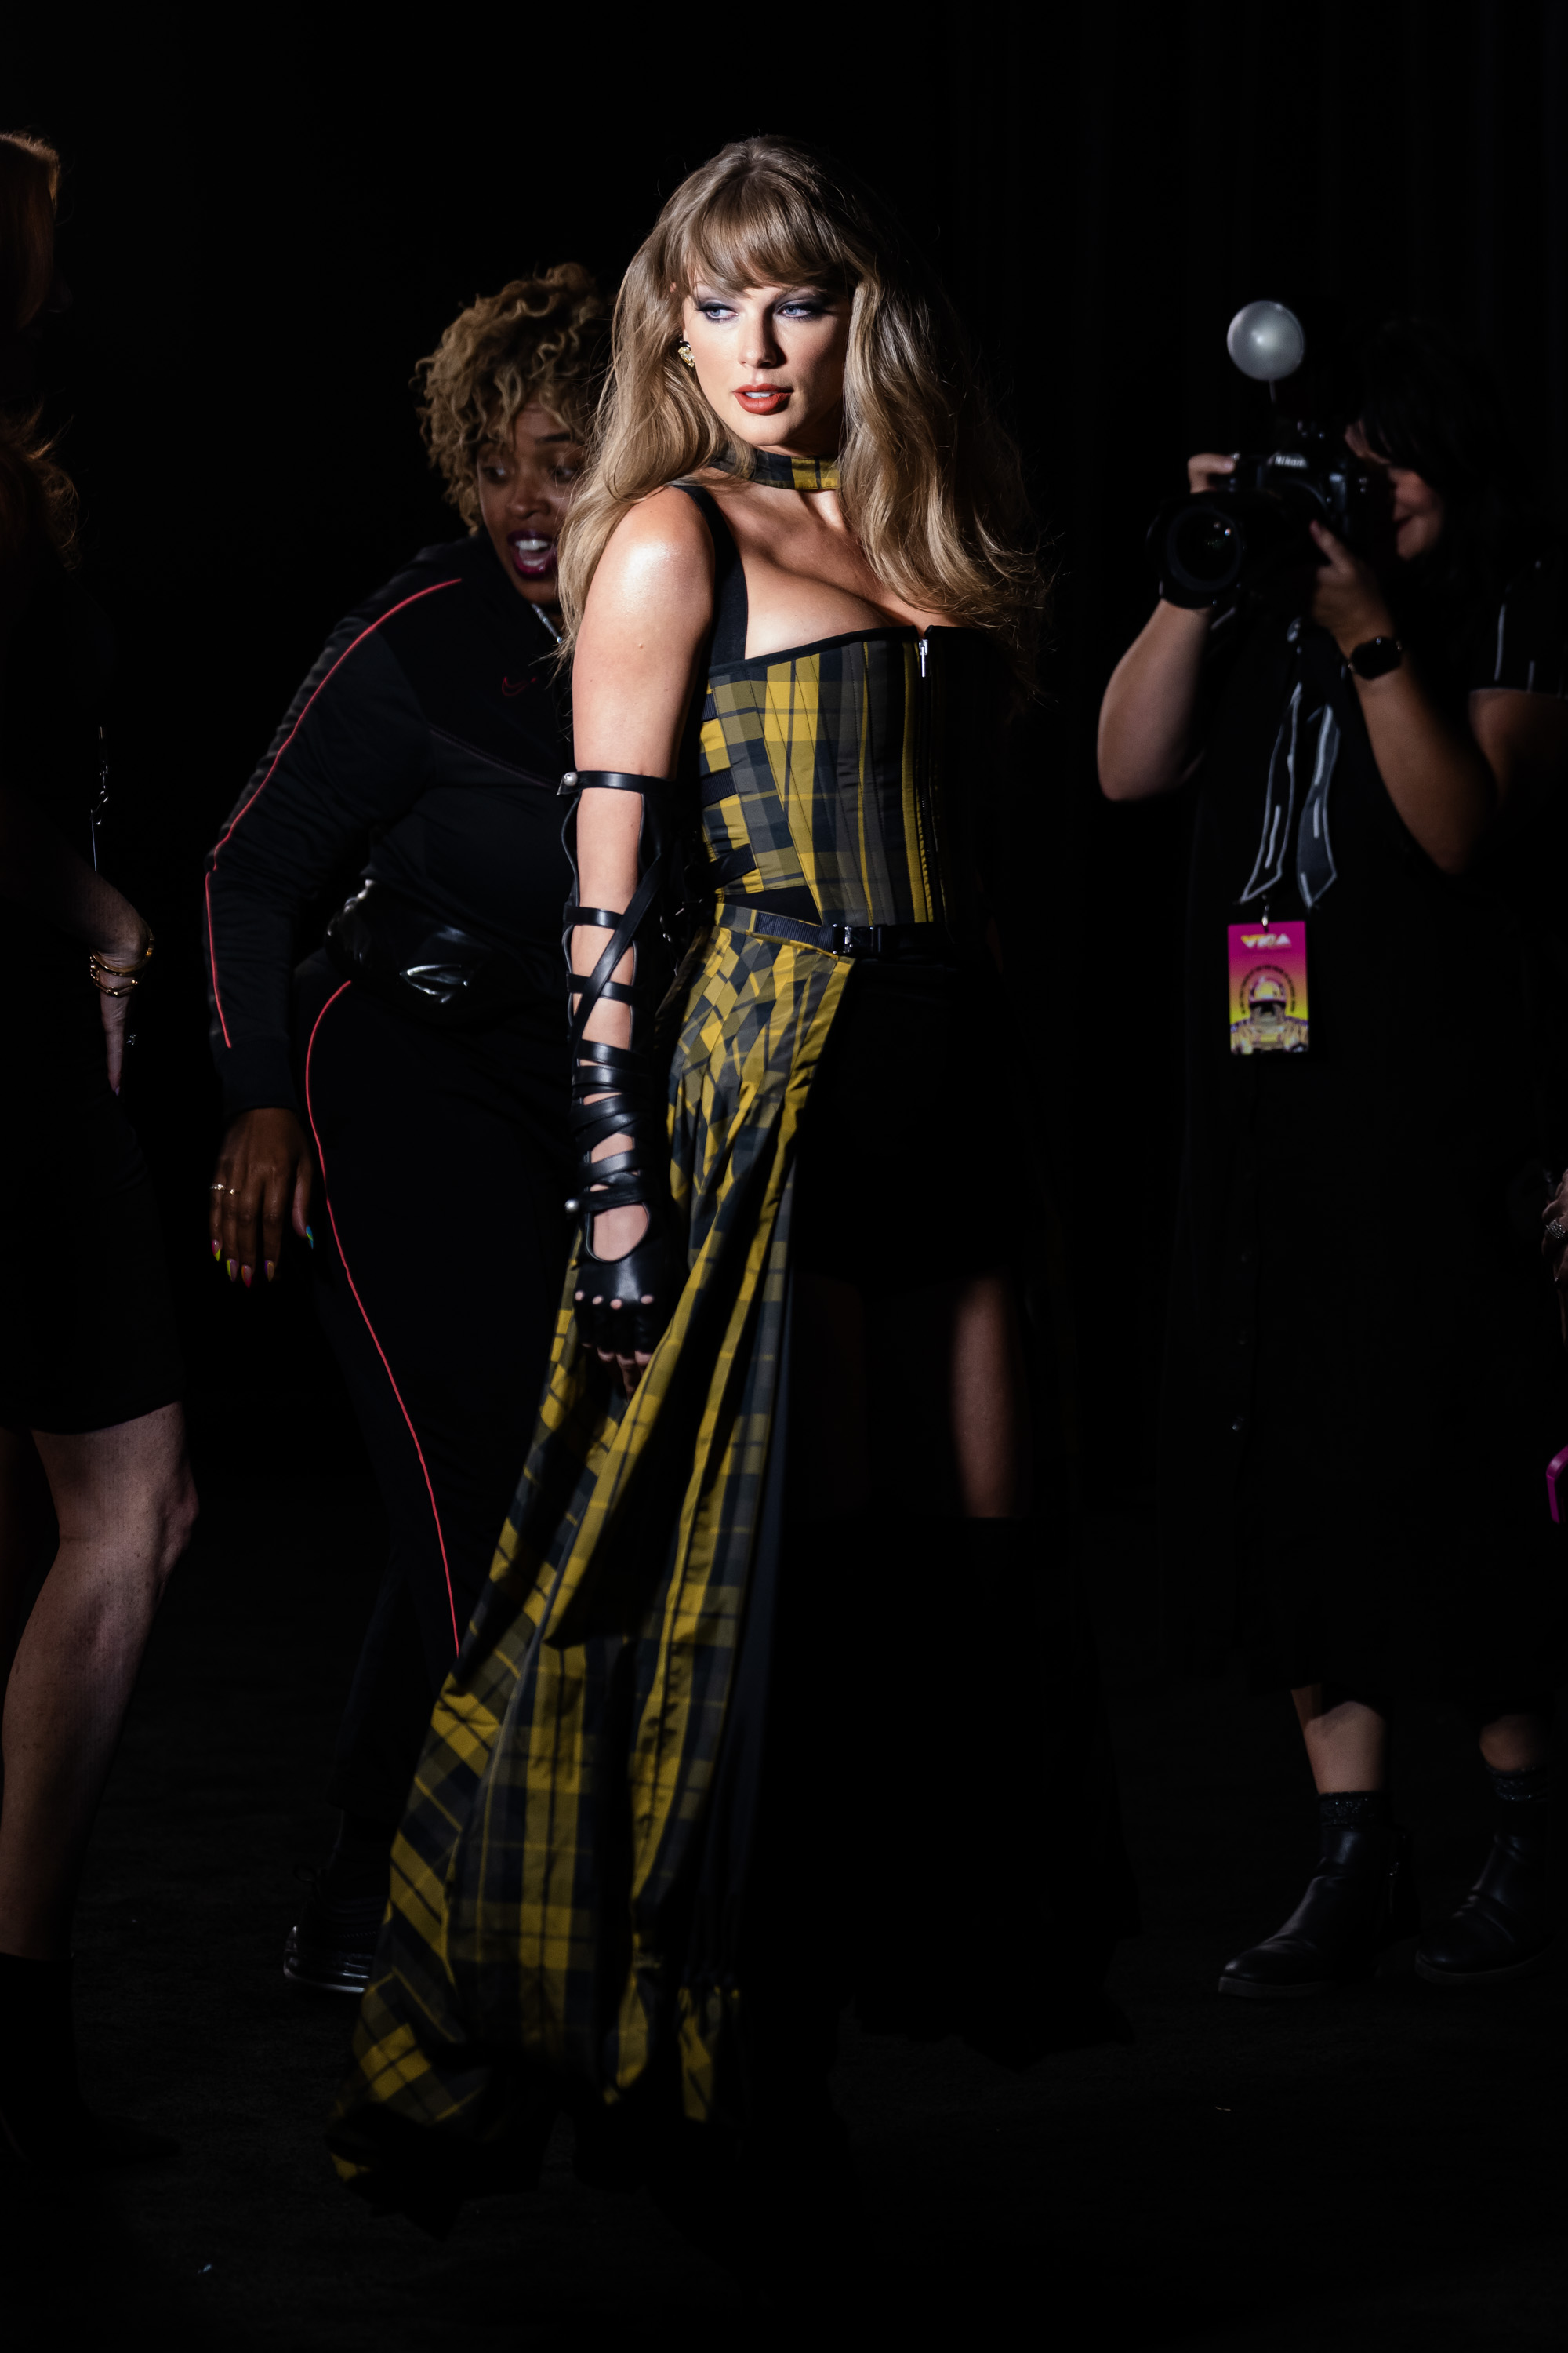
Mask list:
[[[1248,332],[1295,346],[1248,365]],[[1279,306],[1232,325],[1248,374],[1300,355]],[[1253,1998],[1371,1977],[1420,1929],[1387,1727],[1422,1694],[1479,1734],[1495,1828],[1415,1965],[1458,1988],[1544,1962],[1568,1633],[1533,986],[1568,805],[1561,558],[1443,334],[1385,325],[1354,395],[1319,376],[1324,424],[1300,384],[1274,456],[1192,459],[1100,711],[1110,800],[1197,795],[1166,1626],[1190,1671],[1241,1647],[1253,1689],[1293,1694],[1319,1791],[1300,1906],[1220,1979]]]

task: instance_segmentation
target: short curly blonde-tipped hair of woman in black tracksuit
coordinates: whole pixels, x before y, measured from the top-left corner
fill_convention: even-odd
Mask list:
[[[607,358],[609,311],[581,261],[512,278],[458,311],[414,381],[430,464],[470,529],[484,442],[510,445],[517,412],[534,400],[585,440]]]

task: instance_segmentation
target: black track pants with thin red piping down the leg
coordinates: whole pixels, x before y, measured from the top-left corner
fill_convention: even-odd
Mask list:
[[[517,1487],[569,1231],[557,1007],[433,1031],[301,965],[315,1297],[390,1525],[327,1798],[395,1824]]]

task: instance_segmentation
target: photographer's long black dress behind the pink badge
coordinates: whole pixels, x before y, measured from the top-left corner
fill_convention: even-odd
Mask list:
[[[1544,1468],[1568,1442],[1540,1259],[1561,1167],[1530,878],[1561,791],[1462,878],[1401,824],[1333,640],[1262,612],[1197,779],[1187,1136],[1161,1428],[1166,1633],[1255,1687],[1441,1692],[1481,1720],[1563,1666]],[[1533,565],[1422,678],[1563,692],[1563,595]],[[1561,864],[1556,864],[1561,873]],[[1246,894],[1246,896],[1244,896]],[[1307,1052],[1232,1052],[1227,927],[1305,918]]]

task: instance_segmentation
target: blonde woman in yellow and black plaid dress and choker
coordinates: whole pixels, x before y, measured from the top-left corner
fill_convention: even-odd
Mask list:
[[[1041,600],[896,224],[783,141],[693,172],[562,541],[583,1231],[334,2113],[376,2205],[527,2184],[562,2104],[595,2181],[832,2167],[849,2000],[1119,2031],[976,880]]]

